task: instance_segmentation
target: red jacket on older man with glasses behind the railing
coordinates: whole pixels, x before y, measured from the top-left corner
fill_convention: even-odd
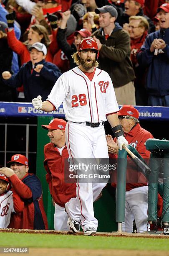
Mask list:
[[[131,146],[136,148],[139,154],[146,160],[150,157],[150,151],[146,150],[144,142],[148,138],[153,138],[152,134],[141,128],[137,124],[129,133],[126,133],[126,140]],[[117,154],[109,154],[110,158],[117,158]],[[127,172],[126,172],[126,191],[135,187],[142,187],[147,185],[145,176],[136,170],[136,164],[127,156]],[[116,187],[116,172],[112,175],[112,186]]]

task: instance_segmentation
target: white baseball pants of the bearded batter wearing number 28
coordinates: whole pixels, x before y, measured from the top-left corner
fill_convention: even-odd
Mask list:
[[[104,126],[91,128],[83,124],[68,122],[66,145],[72,159],[108,159]],[[107,181],[106,181],[107,182]],[[81,219],[83,231],[93,227],[97,230],[98,220],[94,217],[93,201],[100,195],[106,183],[77,182],[77,197],[66,203],[66,211],[73,220]]]

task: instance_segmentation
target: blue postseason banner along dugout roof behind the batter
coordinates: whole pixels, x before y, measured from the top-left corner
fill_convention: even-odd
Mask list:
[[[136,106],[135,108],[139,110],[139,120],[169,120],[169,107]],[[0,102],[0,117],[34,116],[65,117],[63,105],[59,107],[58,111],[47,113],[33,108],[31,103]]]

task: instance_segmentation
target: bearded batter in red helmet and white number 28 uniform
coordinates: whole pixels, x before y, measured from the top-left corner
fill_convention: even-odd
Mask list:
[[[34,108],[50,112],[63,109],[66,125],[66,145],[72,159],[108,159],[108,149],[104,131],[106,117],[111,124],[119,148],[128,142],[119,125],[119,110],[114,87],[107,72],[98,69],[98,46],[92,38],[83,39],[78,51],[73,54],[75,67],[59,77],[48,99],[41,96],[33,99]],[[106,183],[77,182],[76,198],[66,203],[69,225],[74,233],[79,232],[79,224],[84,235],[96,234],[98,221],[94,216],[93,201],[100,195]]]

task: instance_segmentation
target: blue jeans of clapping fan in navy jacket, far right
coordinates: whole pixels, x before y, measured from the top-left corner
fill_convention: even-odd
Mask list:
[[[148,105],[169,107],[169,95],[165,95],[165,96],[149,95]]]

